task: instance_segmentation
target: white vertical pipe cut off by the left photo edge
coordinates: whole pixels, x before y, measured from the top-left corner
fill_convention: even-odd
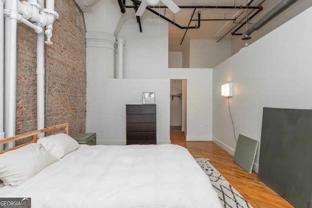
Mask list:
[[[0,0],[0,83],[3,83],[4,81],[4,62],[3,62],[3,49],[4,49],[4,0]],[[4,86],[3,84],[0,84],[0,139],[4,139]],[[3,145],[0,145],[0,151],[3,150]]]

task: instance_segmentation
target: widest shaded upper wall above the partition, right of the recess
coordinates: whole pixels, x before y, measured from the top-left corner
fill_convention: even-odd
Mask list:
[[[231,57],[231,40],[190,40],[190,68],[213,68]]]

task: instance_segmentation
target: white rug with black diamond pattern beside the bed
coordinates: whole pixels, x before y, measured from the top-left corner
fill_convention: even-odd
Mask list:
[[[253,208],[207,159],[196,158],[195,160],[209,176],[224,208]]]

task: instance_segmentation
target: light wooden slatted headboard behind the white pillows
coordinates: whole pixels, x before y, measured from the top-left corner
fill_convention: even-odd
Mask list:
[[[8,138],[5,138],[5,139],[0,139],[0,145],[1,145],[1,144],[5,144],[5,143],[8,143],[8,142],[13,142],[13,141],[20,140],[20,139],[27,138],[27,137],[31,136],[31,141],[30,142],[26,142],[24,144],[15,146],[13,148],[10,148],[10,149],[4,150],[4,151],[0,151],[0,154],[4,153],[6,151],[18,149],[18,148],[20,148],[22,146],[25,146],[25,145],[28,145],[30,143],[35,143],[35,142],[37,142],[37,134],[44,133],[44,132],[49,132],[49,131],[52,131],[52,130],[57,130],[58,132],[53,133],[51,135],[58,134],[58,133],[66,133],[66,134],[68,134],[68,123],[64,123],[64,124],[60,124],[60,125],[56,125],[56,126],[51,126],[51,127],[48,127],[48,128],[45,128],[45,129],[36,130],[36,131],[33,131],[33,132],[22,133],[20,135],[11,136],[11,137],[8,137]]]

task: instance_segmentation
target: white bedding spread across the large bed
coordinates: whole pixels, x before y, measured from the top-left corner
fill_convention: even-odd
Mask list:
[[[32,208],[221,208],[208,176],[177,145],[81,145],[0,197]]]

